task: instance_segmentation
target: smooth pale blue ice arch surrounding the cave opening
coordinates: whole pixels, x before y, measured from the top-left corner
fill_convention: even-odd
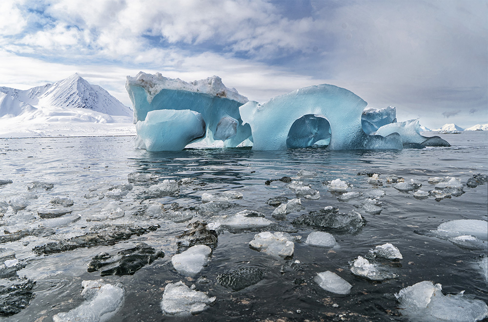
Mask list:
[[[322,115],[330,124],[331,150],[402,149],[401,137],[368,136],[361,124],[367,105],[351,91],[322,84],[277,96],[260,105],[249,101],[239,108],[241,118],[252,129],[253,149],[284,150],[293,123],[305,115]]]

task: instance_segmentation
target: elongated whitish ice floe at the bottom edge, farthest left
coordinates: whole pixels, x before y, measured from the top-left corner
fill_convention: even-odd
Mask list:
[[[122,306],[124,290],[102,280],[83,281],[81,296],[85,302],[68,312],[58,313],[54,322],[105,322],[110,320]]]

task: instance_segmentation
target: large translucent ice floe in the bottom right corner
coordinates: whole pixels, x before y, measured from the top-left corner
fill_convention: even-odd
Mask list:
[[[422,322],[475,322],[485,319],[488,306],[480,300],[471,300],[464,295],[442,293],[441,284],[429,281],[418,282],[395,294],[402,314],[412,321]]]

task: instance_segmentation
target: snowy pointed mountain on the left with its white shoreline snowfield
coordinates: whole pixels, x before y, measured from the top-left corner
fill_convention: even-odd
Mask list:
[[[0,137],[134,134],[133,111],[78,74],[20,90],[0,87]]]

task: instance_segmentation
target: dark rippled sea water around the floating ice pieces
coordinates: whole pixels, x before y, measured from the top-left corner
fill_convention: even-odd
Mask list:
[[[427,134],[429,135],[429,134]],[[0,179],[11,184],[0,187],[0,201],[10,201],[29,192],[32,181],[54,183],[51,190],[33,190],[37,199],[15,213],[9,209],[0,218],[3,229],[22,230],[38,227],[41,220],[37,209],[49,204],[54,196],[68,196],[74,201],[72,215],[81,219],[61,226],[50,237],[25,237],[20,241],[1,244],[14,249],[16,258],[26,263],[18,276],[36,281],[35,297],[20,313],[0,321],[52,321],[59,312],[79,306],[81,281],[100,279],[98,272],[87,272],[87,263],[103,251],[114,253],[136,242],[146,242],[165,253],[163,259],[144,266],[134,275],[106,276],[104,282],[123,285],[125,300],[122,308],[110,321],[408,321],[398,309],[394,294],[400,289],[421,281],[442,284],[443,291],[465,294],[487,302],[487,282],[477,266],[483,251],[459,248],[446,240],[415,233],[435,229],[439,224],[459,219],[487,220],[488,185],[476,188],[464,186],[465,193],[441,201],[433,198],[418,200],[412,192],[400,192],[387,184],[385,178],[397,175],[405,181],[414,179],[429,191],[434,186],[431,177],[455,177],[466,183],[473,174],[488,173],[488,132],[463,132],[441,135],[452,146],[423,150],[327,151],[307,148],[287,151],[252,151],[250,148],[186,149],[181,152],[150,153],[133,147],[131,137],[96,138],[36,138],[0,140]],[[311,178],[298,178],[300,170],[317,173]],[[174,223],[164,219],[133,216],[149,199],[144,190],[148,183],[134,183],[133,189],[117,204],[125,216],[115,221],[87,221],[113,199],[86,198],[89,188],[99,184],[127,183],[132,172],[153,173],[164,179],[194,179],[194,184],[182,186],[177,197],[152,199],[164,205],[179,202],[186,207],[200,205],[204,192],[234,190],[244,195],[232,201],[233,206],[220,215],[232,215],[244,209],[256,210],[271,217],[273,207],[265,201],[276,196],[295,198],[286,183],[273,181],[283,176],[297,177],[320,191],[320,199],[302,198],[305,210],[276,221],[293,227],[291,221],[301,214],[335,206],[342,213],[357,210],[367,223],[357,234],[334,234],[339,247],[310,247],[305,243],[310,227],[296,226],[302,241],[295,242],[291,260],[275,259],[250,249],[248,242],[257,232],[219,235],[208,265],[195,278],[181,276],[173,268],[171,257],[177,253],[175,236],[182,233],[189,222],[197,219],[211,222],[211,216],[196,215],[191,221]],[[375,188],[359,172],[380,174],[386,195],[380,198],[383,210],[379,215],[366,213],[356,207],[359,201],[339,201],[337,194],[328,191],[325,181],[340,178],[353,185],[351,191],[366,193]],[[70,215],[68,215],[70,216]],[[161,228],[139,237],[134,236],[113,246],[80,248],[47,256],[36,255],[32,248],[49,241],[81,235],[96,224],[132,223]],[[403,254],[400,264],[391,265],[399,275],[385,282],[369,282],[354,276],[349,262],[364,256],[376,245],[390,242]],[[264,271],[264,279],[240,291],[220,285],[216,277],[233,268],[254,266]],[[351,293],[336,295],[320,288],[313,278],[318,272],[333,271],[352,284]],[[197,283],[200,277],[207,283]],[[200,291],[217,297],[215,305],[199,315],[175,318],[164,316],[160,302],[164,286],[169,282],[195,283]],[[281,320],[280,320],[281,319]]]

